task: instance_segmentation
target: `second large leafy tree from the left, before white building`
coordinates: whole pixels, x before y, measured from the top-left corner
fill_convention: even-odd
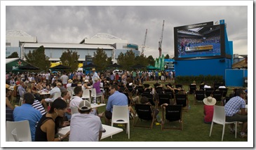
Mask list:
[[[71,69],[67,69],[67,71],[76,71],[79,66],[79,56],[77,52],[67,50],[60,56],[60,61],[63,65],[71,67]]]

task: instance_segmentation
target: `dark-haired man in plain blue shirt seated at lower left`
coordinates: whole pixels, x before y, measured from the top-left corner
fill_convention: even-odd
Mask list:
[[[29,121],[29,128],[31,132],[32,141],[35,141],[36,123],[40,121],[42,115],[41,112],[32,107],[34,103],[34,95],[32,93],[25,93],[23,96],[22,106],[15,107],[13,110],[14,121]]]

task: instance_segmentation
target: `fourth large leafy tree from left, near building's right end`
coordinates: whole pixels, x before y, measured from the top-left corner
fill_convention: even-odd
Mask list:
[[[123,66],[123,69],[130,70],[130,67],[136,64],[133,50],[128,50],[125,54],[120,53],[117,58],[117,63]]]

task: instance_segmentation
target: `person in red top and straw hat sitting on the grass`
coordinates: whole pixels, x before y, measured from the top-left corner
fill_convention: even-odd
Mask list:
[[[203,106],[203,122],[210,124],[213,121],[213,111],[214,111],[214,105],[216,104],[216,99],[213,97],[207,97],[203,99],[203,103],[205,104]]]

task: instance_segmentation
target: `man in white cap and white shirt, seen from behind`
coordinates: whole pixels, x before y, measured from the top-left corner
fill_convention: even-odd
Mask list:
[[[70,121],[69,142],[98,142],[102,137],[100,118],[90,114],[90,102],[82,100],[79,103],[79,113],[72,114]]]

